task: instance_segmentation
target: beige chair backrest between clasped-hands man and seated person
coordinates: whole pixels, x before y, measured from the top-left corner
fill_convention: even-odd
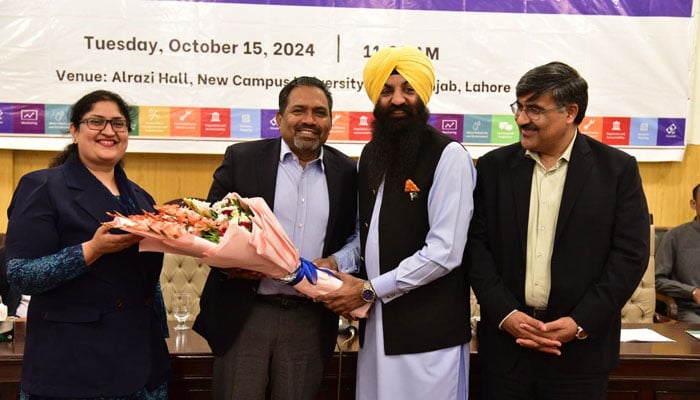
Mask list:
[[[654,273],[654,255],[656,254],[656,229],[650,225],[649,263],[637,289],[624,307],[622,307],[623,323],[652,323],[656,311],[656,287]]]

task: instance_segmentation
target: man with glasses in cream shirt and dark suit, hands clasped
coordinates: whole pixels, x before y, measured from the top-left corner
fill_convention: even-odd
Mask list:
[[[518,81],[520,141],[477,163],[466,260],[483,399],[607,398],[620,311],[649,264],[634,157],[581,134],[588,84],[552,62]]]

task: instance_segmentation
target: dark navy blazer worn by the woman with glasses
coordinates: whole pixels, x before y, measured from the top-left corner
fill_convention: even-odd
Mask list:
[[[136,209],[153,209],[153,198],[127,181],[121,167],[115,173],[126,185],[122,196],[128,191]],[[165,333],[154,307],[162,301],[155,298],[162,254],[140,253],[135,245],[103,255],[78,276],[61,271],[70,258],[56,253],[76,255],[100,223],[111,220],[108,211],[128,209],[76,156],[29,173],[18,184],[8,209],[8,262],[49,256],[41,271],[21,265],[8,271],[19,291],[32,295],[22,364],[27,393],[117,396],[167,380]],[[61,283],[37,289],[27,284],[30,276]]]

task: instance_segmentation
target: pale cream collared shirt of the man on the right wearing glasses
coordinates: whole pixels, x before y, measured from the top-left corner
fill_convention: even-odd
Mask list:
[[[552,283],[554,234],[574,140],[576,134],[549,170],[540,161],[539,154],[525,151],[527,157],[535,160],[530,188],[525,267],[525,303],[530,307],[547,308]]]

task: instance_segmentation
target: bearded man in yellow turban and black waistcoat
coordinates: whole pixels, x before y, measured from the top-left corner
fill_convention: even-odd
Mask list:
[[[469,153],[428,125],[430,60],[413,47],[367,62],[372,140],[358,168],[363,279],[321,298],[341,315],[372,303],[358,399],[466,399],[469,283],[462,264],[476,173]]]

